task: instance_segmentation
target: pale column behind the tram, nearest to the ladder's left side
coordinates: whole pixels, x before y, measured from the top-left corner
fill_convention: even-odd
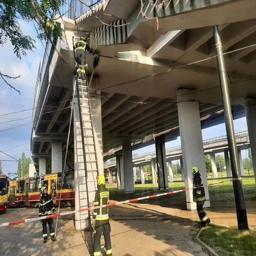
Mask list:
[[[62,172],[62,142],[52,142],[52,173]]]

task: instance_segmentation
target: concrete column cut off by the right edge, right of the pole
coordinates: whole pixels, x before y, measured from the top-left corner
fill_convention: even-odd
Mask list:
[[[247,105],[245,107],[248,133],[250,138],[250,147],[253,160],[254,177],[256,182],[256,105]]]

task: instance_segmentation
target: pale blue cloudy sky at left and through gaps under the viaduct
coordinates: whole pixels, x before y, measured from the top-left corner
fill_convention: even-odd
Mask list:
[[[29,35],[36,40],[37,49],[34,50],[34,52],[27,52],[27,56],[23,56],[21,60],[19,60],[13,53],[13,46],[10,42],[7,42],[3,47],[0,47],[1,73],[12,76],[20,75],[20,78],[15,80],[8,79],[8,82],[15,86],[21,92],[21,95],[19,95],[17,91],[12,90],[0,78],[0,150],[16,159],[21,157],[23,151],[27,157],[31,156],[30,139],[33,110],[27,109],[33,108],[37,71],[44,54],[44,48],[41,42],[37,39],[37,33],[33,24],[20,21],[20,27],[22,31],[24,31],[24,34]],[[2,114],[19,110],[27,111],[1,116]],[[17,120],[23,118],[25,119]],[[20,127],[14,128],[16,126]],[[235,120],[234,126],[236,132],[247,129],[246,119],[241,118]],[[9,128],[13,129],[4,131]],[[203,139],[225,134],[226,130],[224,124],[202,130]],[[166,143],[165,147],[167,148],[178,145],[181,145],[180,137],[175,141]],[[155,151],[154,145],[134,150],[133,154],[141,154],[150,151]],[[242,157],[245,158],[245,152],[242,152]],[[13,159],[0,152],[0,160]],[[2,162],[2,166],[5,174],[8,174],[8,172],[17,172],[18,169],[17,162]]]

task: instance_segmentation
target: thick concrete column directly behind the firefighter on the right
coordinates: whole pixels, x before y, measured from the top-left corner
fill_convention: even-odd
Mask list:
[[[198,101],[191,101],[193,91],[182,90],[178,101],[178,116],[180,125],[180,135],[182,144],[183,172],[185,178],[185,188],[193,187],[191,168],[199,168],[201,179],[205,185],[206,201],[204,207],[210,206],[209,191],[207,185],[207,174],[204,160],[204,151],[201,133],[201,120]],[[187,94],[191,93],[191,94]],[[186,94],[182,96],[182,94]],[[195,210],[196,203],[193,201],[193,190],[186,191],[187,210]]]

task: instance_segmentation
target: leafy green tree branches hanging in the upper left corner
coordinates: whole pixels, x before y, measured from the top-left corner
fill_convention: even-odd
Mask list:
[[[65,2],[66,0],[0,0],[0,46],[10,41],[19,59],[21,55],[26,56],[27,51],[36,48],[35,39],[21,31],[19,20],[35,22],[40,39],[56,41],[58,37],[62,38],[62,28],[52,17]],[[12,89],[18,91],[7,79],[16,79],[19,76],[13,77],[0,71],[0,77]]]

